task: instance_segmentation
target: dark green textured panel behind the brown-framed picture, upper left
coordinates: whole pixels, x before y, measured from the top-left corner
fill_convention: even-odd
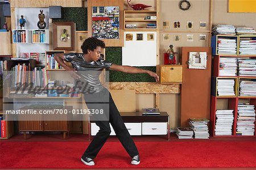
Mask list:
[[[87,31],[87,8],[67,7],[61,11],[61,18],[52,19],[52,22],[75,22],[76,31]]]

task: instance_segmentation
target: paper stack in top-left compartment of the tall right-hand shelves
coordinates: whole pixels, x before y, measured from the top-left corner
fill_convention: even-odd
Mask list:
[[[225,37],[218,37],[218,54],[237,54],[237,40]]]

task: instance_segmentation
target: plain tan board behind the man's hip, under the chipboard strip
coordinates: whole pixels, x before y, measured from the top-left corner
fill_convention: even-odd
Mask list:
[[[135,90],[110,90],[114,103],[119,112],[135,112]]]

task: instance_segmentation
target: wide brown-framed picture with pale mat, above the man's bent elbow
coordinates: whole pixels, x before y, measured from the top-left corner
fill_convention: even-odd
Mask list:
[[[52,34],[53,50],[75,50],[75,23],[54,22]]]

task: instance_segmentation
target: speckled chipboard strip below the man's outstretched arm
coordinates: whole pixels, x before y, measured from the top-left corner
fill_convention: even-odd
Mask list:
[[[110,82],[110,90],[135,90],[136,94],[180,94],[179,84],[146,82]]]

